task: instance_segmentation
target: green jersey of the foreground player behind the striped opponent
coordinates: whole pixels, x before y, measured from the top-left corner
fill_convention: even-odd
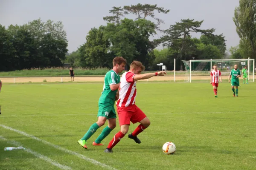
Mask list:
[[[120,82],[120,76],[115,71],[111,70],[105,75],[102,95],[99,98],[99,103],[114,105],[116,99],[116,92],[111,91],[110,85],[115,85]]]

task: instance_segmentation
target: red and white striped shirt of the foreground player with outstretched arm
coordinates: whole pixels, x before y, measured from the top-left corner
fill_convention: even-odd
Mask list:
[[[132,72],[122,74],[119,86],[119,99],[116,102],[117,107],[134,105],[137,91],[136,82],[133,81],[135,75]]]

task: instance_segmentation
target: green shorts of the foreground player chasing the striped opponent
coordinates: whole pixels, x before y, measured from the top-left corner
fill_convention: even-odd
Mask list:
[[[98,117],[103,116],[107,119],[116,119],[116,111],[113,105],[104,105],[99,103],[99,111],[98,111]]]

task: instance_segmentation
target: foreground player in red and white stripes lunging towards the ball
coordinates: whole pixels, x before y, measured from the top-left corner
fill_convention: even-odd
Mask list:
[[[137,138],[137,135],[150,125],[150,121],[145,113],[135,105],[137,94],[136,81],[140,79],[149,79],[153,76],[163,76],[166,72],[160,71],[156,73],[140,74],[144,69],[145,67],[141,62],[133,61],[130,65],[130,70],[122,74],[119,87],[119,99],[116,102],[121,130],[116,133],[113,139],[109,142],[108,147],[105,150],[106,153],[113,152],[112,148],[128,132],[130,122],[133,124],[140,122],[140,125],[128,135],[128,137],[134,139],[136,143],[140,143],[140,139]]]

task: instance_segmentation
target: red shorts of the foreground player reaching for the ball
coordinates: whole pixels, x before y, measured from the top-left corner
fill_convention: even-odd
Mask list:
[[[142,121],[145,117],[145,113],[137,107],[137,105],[131,105],[126,108],[117,107],[117,114],[119,117],[119,125],[130,125],[130,122],[137,123]]]

